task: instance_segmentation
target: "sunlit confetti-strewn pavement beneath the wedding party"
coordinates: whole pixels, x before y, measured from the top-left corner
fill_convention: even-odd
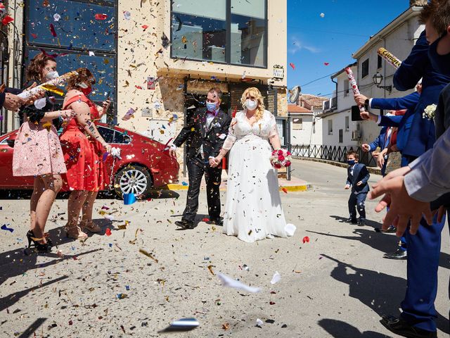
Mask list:
[[[293,169],[312,186],[281,194],[288,222],[297,225],[295,236],[253,244],[202,222],[205,192],[198,227],[176,230],[186,192],[160,191],[131,206],[99,199],[96,218],[103,232],[84,243],[64,237],[67,200],[58,199],[47,226],[58,248],[46,256],[24,256],[29,201],[4,194],[0,223],[10,223],[14,232],[0,230],[0,337],[34,337],[33,332],[65,338],[392,337],[378,320],[383,313],[399,313],[406,286],[406,262],[382,258],[395,249],[396,237],[373,231],[381,218],[373,212],[374,201],[367,202],[368,225],[342,222],[347,218],[345,168],[295,161]],[[372,175],[371,182],[378,178]],[[102,206],[110,215],[98,213]],[[303,243],[304,237],[309,242]],[[444,230],[439,337],[448,337],[449,252]],[[272,285],[276,271],[281,281]],[[224,288],[212,274],[219,272],[262,292]],[[188,317],[200,327],[158,333],[172,320]],[[255,326],[257,318],[264,322],[261,327]]]

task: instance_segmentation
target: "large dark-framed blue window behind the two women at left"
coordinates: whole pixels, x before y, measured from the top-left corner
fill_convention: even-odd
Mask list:
[[[55,13],[60,15],[58,21]],[[97,20],[98,13],[105,20]],[[48,54],[67,54],[56,58],[60,75],[89,68],[96,77],[89,97],[100,103],[109,95],[117,102],[117,1],[52,0],[51,6],[42,6],[41,1],[27,0],[24,44],[25,65],[41,49]],[[63,97],[56,99],[62,101]],[[110,118],[115,118],[115,113]]]

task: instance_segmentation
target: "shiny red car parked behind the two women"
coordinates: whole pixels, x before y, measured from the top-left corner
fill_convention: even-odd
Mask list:
[[[178,182],[179,164],[168,147],[135,132],[98,123],[98,132],[108,144],[120,148],[120,157],[106,159],[111,190],[117,195],[145,197],[152,188]],[[33,177],[13,177],[14,139],[18,130],[0,136],[0,189],[32,189]],[[165,149],[167,148],[167,149]]]

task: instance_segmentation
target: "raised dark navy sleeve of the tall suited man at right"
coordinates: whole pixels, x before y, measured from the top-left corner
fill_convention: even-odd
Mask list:
[[[394,74],[394,87],[401,92],[412,89],[425,74],[425,68],[430,62],[428,59],[428,42],[425,30],[420,34],[411,53],[403,61]]]

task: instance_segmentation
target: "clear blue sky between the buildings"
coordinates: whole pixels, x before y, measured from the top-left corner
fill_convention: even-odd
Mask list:
[[[326,75],[354,63],[352,54],[408,7],[409,0],[288,0],[288,87],[330,97],[335,84]]]

